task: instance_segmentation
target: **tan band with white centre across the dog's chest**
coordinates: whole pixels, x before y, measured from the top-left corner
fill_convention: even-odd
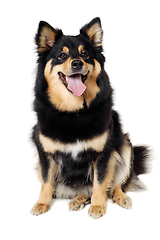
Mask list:
[[[97,136],[88,141],[77,141],[75,143],[64,144],[58,141],[54,141],[49,137],[45,137],[40,133],[39,139],[44,148],[44,151],[47,153],[54,154],[56,151],[63,153],[71,153],[73,158],[76,158],[77,155],[85,150],[93,149],[97,152],[103,151],[103,148],[108,139],[108,131],[103,133],[100,136]]]

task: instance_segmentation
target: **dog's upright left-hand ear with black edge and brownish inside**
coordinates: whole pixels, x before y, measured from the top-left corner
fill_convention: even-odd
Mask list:
[[[54,29],[47,22],[41,21],[35,36],[38,53],[51,49],[54,45],[56,37],[62,34],[61,30]]]

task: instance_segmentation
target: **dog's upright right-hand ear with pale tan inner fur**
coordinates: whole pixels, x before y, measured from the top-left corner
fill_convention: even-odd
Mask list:
[[[102,49],[103,31],[100,18],[94,18],[90,23],[82,27],[80,34],[89,38],[95,47],[100,47]]]

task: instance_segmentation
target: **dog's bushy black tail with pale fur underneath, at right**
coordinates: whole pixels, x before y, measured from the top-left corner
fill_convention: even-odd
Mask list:
[[[150,149],[146,146],[133,147],[133,166],[130,176],[122,186],[124,192],[146,189],[138,176],[150,172],[150,155]]]

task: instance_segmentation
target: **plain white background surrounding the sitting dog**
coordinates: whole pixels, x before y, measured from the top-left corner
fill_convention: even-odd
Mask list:
[[[133,209],[111,202],[99,220],[87,206],[69,212],[57,200],[45,215],[32,216],[40,182],[29,137],[36,72],[34,35],[40,20],[77,35],[101,17],[106,71],[124,131],[133,144],[153,149],[151,174],[141,178],[149,191],[129,193]],[[1,239],[160,239],[160,2],[155,0],[3,1],[0,27],[0,220]]]

